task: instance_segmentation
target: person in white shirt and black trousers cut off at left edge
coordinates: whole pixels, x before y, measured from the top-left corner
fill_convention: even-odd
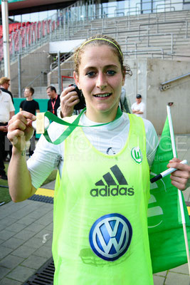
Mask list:
[[[7,180],[4,157],[6,150],[6,135],[8,130],[8,122],[14,115],[14,104],[8,93],[0,90],[0,179]],[[7,140],[9,145],[9,140]],[[11,147],[9,146],[9,155],[11,158]]]

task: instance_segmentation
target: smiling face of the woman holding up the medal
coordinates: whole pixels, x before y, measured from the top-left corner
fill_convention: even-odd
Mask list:
[[[109,46],[86,46],[75,83],[83,91],[86,115],[95,122],[114,120],[125,82],[120,61]]]

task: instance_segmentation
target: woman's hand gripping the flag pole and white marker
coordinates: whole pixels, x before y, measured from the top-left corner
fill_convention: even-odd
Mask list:
[[[178,158],[173,158],[172,160],[169,160],[169,164],[167,165],[167,167],[176,168],[176,170],[172,172],[170,176],[171,184],[179,190],[185,190],[186,187],[190,186],[187,185],[187,182],[190,178],[190,166],[184,165],[180,162],[181,160],[179,160]]]

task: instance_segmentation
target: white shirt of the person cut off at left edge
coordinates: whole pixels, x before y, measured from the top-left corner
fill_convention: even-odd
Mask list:
[[[0,123],[7,123],[10,119],[10,112],[14,111],[14,104],[9,93],[0,91]]]

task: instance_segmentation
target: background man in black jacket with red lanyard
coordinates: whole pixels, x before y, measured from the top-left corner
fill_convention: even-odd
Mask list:
[[[60,106],[60,95],[57,94],[54,86],[48,86],[46,92],[50,98],[50,100],[48,100],[48,111],[57,115],[57,109]]]

